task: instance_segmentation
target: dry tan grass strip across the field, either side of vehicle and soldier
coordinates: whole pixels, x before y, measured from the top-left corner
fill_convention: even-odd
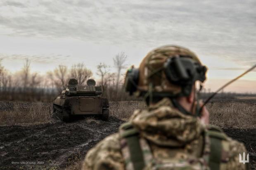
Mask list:
[[[6,106],[5,106],[6,107]],[[255,102],[211,102],[207,106],[210,122],[220,128],[256,128]],[[110,115],[128,121],[135,109],[145,109],[144,102],[110,102]],[[0,125],[38,124],[51,121],[51,103],[14,103],[0,110]],[[87,121],[96,121],[88,118]]]

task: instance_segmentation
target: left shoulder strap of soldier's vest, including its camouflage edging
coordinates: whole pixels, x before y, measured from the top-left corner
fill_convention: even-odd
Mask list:
[[[142,170],[145,167],[138,131],[130,122],[120,127],[122,154],[126,161],[126,170]],[[126,153],[126,152],[129,153]],[[132,164],[132,165],[131,165]]]

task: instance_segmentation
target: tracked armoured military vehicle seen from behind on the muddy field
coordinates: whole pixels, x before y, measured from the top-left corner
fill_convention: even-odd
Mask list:
[[[62,121],[69,121],[71,116],[97,115],[104,121],[109,118],[109,101],[102,98],[102,89],[95,86],[93,79],[87,86],[81,86],[76,79],[70,79],[61,95],[53,102],[53,116]]]

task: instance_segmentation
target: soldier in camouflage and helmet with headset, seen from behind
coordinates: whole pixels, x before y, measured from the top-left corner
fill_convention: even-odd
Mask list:
[[[126,74],[126,90],[142,96],[118,133],[88,151],[83,170],[246,170],[239,163],[244,144],[209,125],[209,112],[197,99],[196,82],[206,67],[190,50],[164,46],[149,52],[139,69]]]

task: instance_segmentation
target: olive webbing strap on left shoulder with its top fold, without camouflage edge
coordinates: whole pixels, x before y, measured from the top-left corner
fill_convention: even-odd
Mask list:
[[[142,170],[145,167],[145,163],[140,147],[139,133],[129,122],[124,123],[120,129],[121,138],[126,139],[127,147],[129,148],[130,161],[133,164],[133,170]]]

